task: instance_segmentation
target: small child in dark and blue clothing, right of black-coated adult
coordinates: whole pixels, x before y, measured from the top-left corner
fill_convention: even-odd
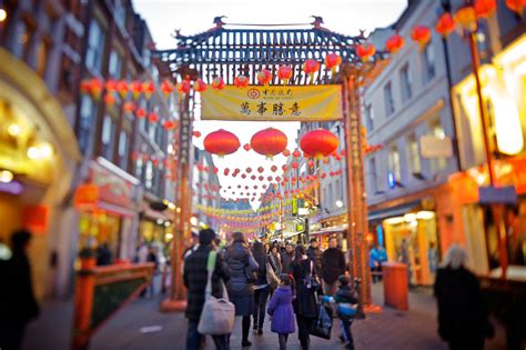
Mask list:
[[[353,334],[351,333],[351,324],[353,323],[358,303],[357,293],[350,286],[350,280],[345,276],[338,278],[338,290],[333,297],[323,297],[324,302],[336,303],[336,313],[342,324],[342,336],[340,339],[346,341],[345,349],[354,349]]]

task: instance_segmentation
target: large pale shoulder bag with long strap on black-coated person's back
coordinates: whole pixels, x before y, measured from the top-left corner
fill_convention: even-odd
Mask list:
[[[201,334],[222,336],[232,333],[235,319],[235,306],[230,302],[226,288],[222,283],[223,298],[215,298],[212,296],[212,273],[215,269],[218,253],[211,251],[209,254],[206,270],[209,279],[206,281],[206,289],[204,290],[204,304],[201,311],[201,318],[198,324],[198,331]]]

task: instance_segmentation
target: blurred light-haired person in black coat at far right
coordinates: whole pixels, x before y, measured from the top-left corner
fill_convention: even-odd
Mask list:
[[[438,268],[434,286],[438,334],[451,350],[482,350],[494,336],[476,276],[465,268],[466,252],[453,244]]]

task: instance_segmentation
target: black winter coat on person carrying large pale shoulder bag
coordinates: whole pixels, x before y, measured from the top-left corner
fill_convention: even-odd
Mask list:
[[[206,264],[211,250],[211,244],[200,244],[199,248],[184,260],[183,281],[184,286],[188,288],[188,306],[185,316],[191,321],[199,321],[201,311],[203,310],[204,290],[206,289],[209,278]],[[229,281],[230,269],[224,263],[223,258],[218,254],[214,273],[212,274],[212,296],[215,298],[221,298],[223,296],[223,284],[220,279],[223,279],[225,282]]]

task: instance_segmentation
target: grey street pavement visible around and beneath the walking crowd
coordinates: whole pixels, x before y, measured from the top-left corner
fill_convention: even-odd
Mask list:
[[[97,350],[164,350],[184,349],[186,321],[182,313],[159,312],[156,296],[138,299],[110,319],[92,338],[90,349]],[[383,303],[382,284],[373,287],[373,301]],[[42,317],[28,329],[24,349],[68,349],[72,320],[71,302],[52,302],[45,306]],[[445,350],[436,332],[436,303],[428,289],[415,289],[409,294],[409,311],[401,312],[384,308],[381,313],[370,313],[365,320],[356,320],[352,327],[357,350],[361,349],[429,349]],[[337,340],[335,322],[331,340],[312,337],[312,349],[343,349]],[[486,349],[504,349],[503,330],[486,344]],[[265,320],[263,336],[251,333],[250,349],[277,349],[277,336],[270,332]],[[232,349],[241,349],[241,322],[236,319],[231,338]],[[208,339],[205,349],[214,349]],[[246,348],[247,349],[247,348]],[[300,349],[297,333],[291,334],[289,349]]]

